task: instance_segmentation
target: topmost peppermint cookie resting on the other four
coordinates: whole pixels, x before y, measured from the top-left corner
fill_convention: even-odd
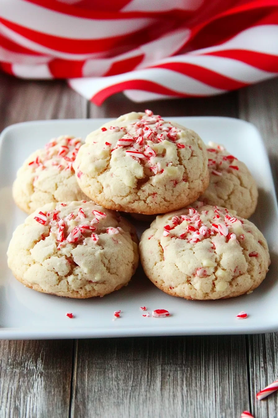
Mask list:
[[[194,131],[146,110],[90,133],[74,166],[90,199],[108,209],[151,215],[197,199],[208,186],[207,163]]]

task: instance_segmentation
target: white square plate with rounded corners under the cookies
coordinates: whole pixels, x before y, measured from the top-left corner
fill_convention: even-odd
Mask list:
[[[6,251],[14,229],[25,214],[12,199],[16,171],[35,149],[58,135],[86,135],[107,119],[25,122],[6,128],[0,148],[0,338],[93,338],[189,334],[243,334],[278,330],[278,209],[273,178],[263,141],[248,122],[226,117],[172,117],[195,130],[201,138],[215,141],[244,161],[259,186],[258,207],[251,218],[265,235],[272,264],[263,283],[250,295],[218,301],[187,301],[158,290],[138,269],[130,284],[104,298],[76,300],[50,296],[25,288],[8,269]],[[139,231],[140,232],[140,231]],[[142,232],[142,226],[141,226]],[[167,318],[144,318],[163,308]],[[121,318],[113,321],[113,312]],[[248,319],[237,320],[240,311]],[[74,319],[65,316],[73,312]]]

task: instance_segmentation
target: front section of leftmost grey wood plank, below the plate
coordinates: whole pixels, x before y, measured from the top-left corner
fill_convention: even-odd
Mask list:
[[[1,341],[1,418],[68,418],[72,345]]]

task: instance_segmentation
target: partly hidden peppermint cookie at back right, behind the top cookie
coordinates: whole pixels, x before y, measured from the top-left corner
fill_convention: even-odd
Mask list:
[[[208,170],[210,183],[199,200],[208,205],[235,210],[238,216],[249,218],[256,209],[258,189],[250,171],[222,145],[209,143]]]

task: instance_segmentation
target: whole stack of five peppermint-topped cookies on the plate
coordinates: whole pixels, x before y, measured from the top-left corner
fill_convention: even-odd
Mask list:
[[[119,211],[165,214],[139,247],[148,278],[173,296],[238,296],[268,271],[265,238],[244,219],[258,199],[248,168],[150,110],[106,123],[83,145],[73,137],[52,140],[25,161],[13,196],[35,212],[14,232],[8,264],[37,291],[88,298],[126,285],[138,245]]]

